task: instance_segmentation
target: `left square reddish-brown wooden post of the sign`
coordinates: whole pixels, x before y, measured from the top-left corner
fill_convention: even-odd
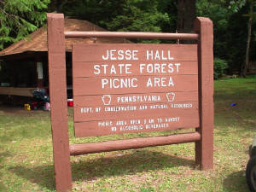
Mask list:
[[[67,119],[64,15],[48,14],[49,97],[57,191],[72,189]]]

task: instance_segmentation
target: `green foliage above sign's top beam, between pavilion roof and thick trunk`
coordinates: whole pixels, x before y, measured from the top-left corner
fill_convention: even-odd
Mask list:
[[[169,15],[162,10],[157,0],[79,0],[62,8],[65,15],[119,32],[161,32],[161,26],[170,25]]]

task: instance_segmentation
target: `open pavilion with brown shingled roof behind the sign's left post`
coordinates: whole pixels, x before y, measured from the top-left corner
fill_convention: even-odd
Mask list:
[[[86,20],[65,19],[65,31],[104,32]],[[72,95],[72,44],[131,43],[125,38],[66,38],[68,96]],[[32,97],[35,88],[48,89],[47,29],[41,27],[0,52],[0,101],[14,102]]]

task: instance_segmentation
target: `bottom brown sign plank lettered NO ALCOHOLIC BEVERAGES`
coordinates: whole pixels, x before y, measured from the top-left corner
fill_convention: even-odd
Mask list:
[[[86,122],[74,122],[76,126],[75,137],[93,137],[111,134],[171,131],[179,128],[191,128],[199,126],[198,111],[189,113],[172,113],[169,116],[151,114],[150,117],[134,117],[133,119],[111,119]],[[185,120],[184,120],[185,119]]]

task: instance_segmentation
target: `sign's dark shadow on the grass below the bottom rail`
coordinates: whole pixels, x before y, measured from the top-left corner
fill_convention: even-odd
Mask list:
[[[194,160],[187,160],[175,155],[154,152],[147,149],[134,150],[132,154],[102,157],[94,160],[72,161],[73,181],[90,182],[97,177],[131,175],[149,170],[189,166],[195,167]],[[9,168],[19,177],[24,177],[31,183],[37,183],[43,188],[55,189],[54,166],[13,166]]]

